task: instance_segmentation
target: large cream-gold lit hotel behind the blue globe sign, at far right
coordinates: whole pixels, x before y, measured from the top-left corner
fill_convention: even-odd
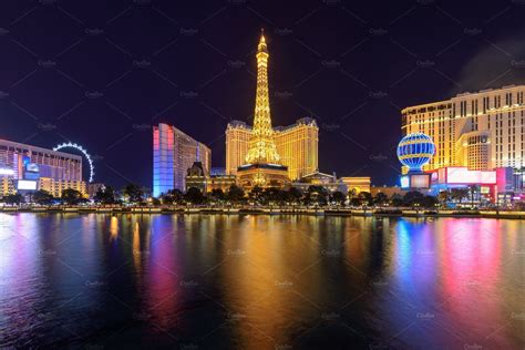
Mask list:
[[[522,168],[524,92],[525,85],[511,85],[410,106],[401,111],[401,131],[403,136],[421,132],[432,137],[435,155],[425,171],[445,166]]]

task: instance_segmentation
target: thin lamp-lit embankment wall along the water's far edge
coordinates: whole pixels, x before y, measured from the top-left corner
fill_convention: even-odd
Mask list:
[[[390,212],[390,213],[389,213]],[[0,207],[0,213],[75,213],[75,214],[198,214],[198,215],[308,215],[361,217],[456,217],[525,219],[525,212],[506,210],[415,210],[351,208],[280,208],[280,207]]]

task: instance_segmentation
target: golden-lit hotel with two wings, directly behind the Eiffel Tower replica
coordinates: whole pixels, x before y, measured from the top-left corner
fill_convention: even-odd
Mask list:
[[[311,174],[318,168],[319,127],[313,119],[303,117],[289,126],[274,128],[274,140],[282,165],[288,167],[292,181]],[[246,163],[251,127],[233,121],[226,128],[226,174],[236,175]]]

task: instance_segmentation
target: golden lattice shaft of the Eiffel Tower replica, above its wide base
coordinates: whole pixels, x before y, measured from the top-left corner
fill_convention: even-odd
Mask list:
[[[257,47],[257,92],[255,99],[254,128],[248,143],[247,163],[279,164],[279,155],[274,142],[270,102],[268,93],[268,48],[264,30]]]

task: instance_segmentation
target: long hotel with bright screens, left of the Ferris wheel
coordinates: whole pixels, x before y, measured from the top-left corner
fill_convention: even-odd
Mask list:
[[[81,156],[0,140],[1,196],[43,189],[60,197],[65,188],[85,195]]]

